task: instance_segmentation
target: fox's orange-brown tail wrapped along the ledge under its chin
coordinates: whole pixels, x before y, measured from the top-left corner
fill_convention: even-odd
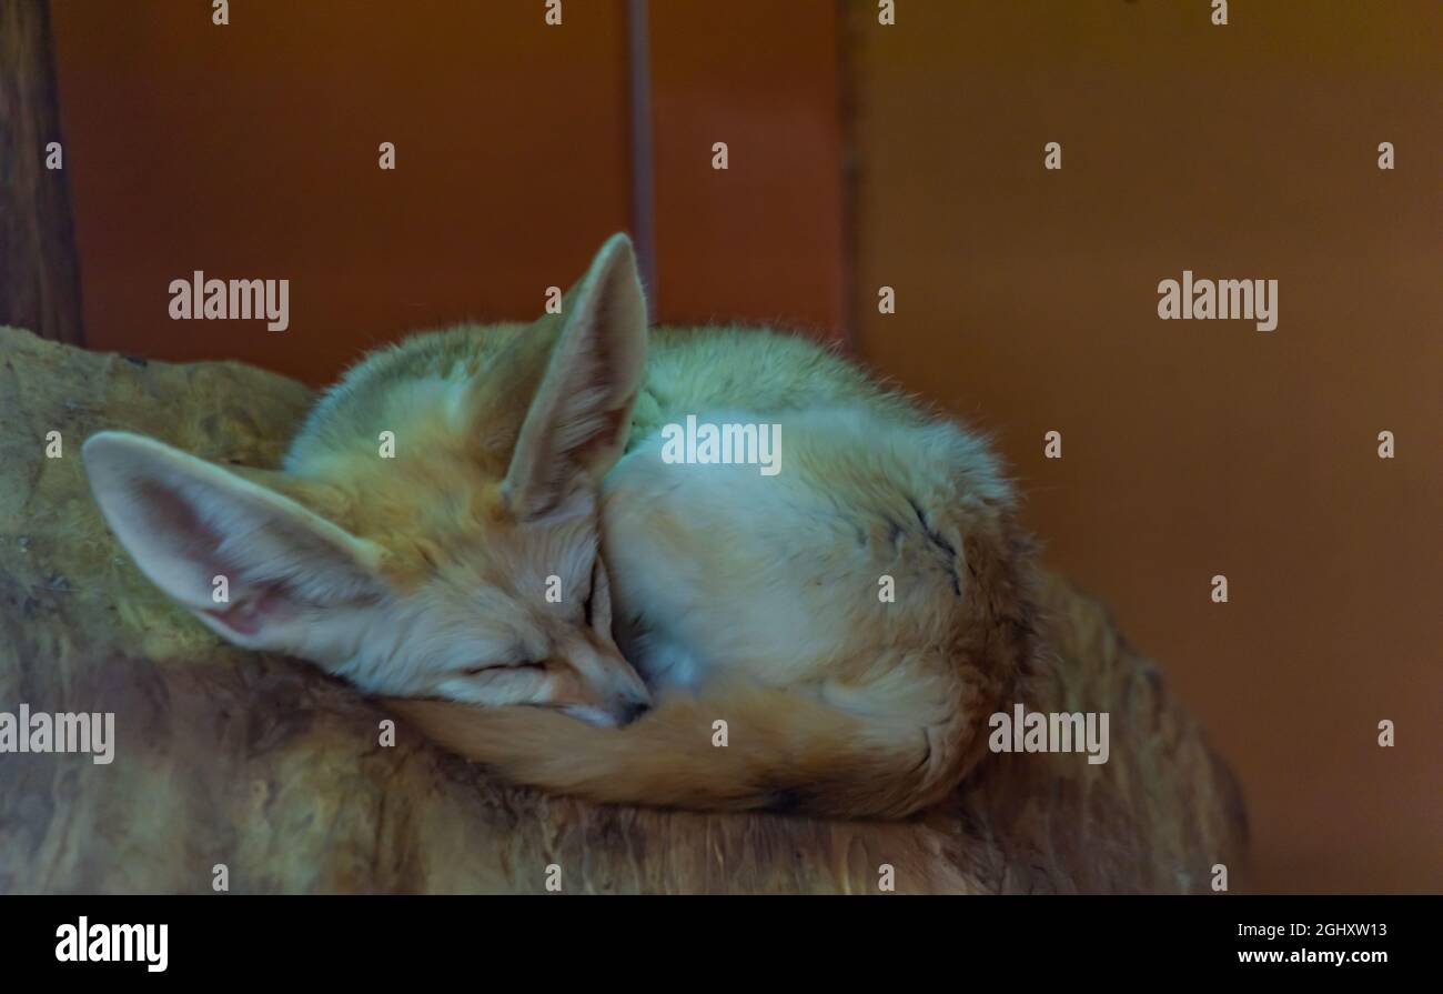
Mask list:
[[[961,743],[937,743],[938,730],[874,724],[762,686],[664,699],[623,728],[541,708],[410,698],[385,705],[511,780],[608,803],[902,818],[937,802],[964,773]]]

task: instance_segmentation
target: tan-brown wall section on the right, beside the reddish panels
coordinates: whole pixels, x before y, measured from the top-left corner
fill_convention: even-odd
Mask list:
[[[1443,7],[899,9],[847,33],[866,357],[999,432],[1240,772],[1260,887],[1443,890]],[[1277,329],[1160,321],[1183,269],[1278,279]]]

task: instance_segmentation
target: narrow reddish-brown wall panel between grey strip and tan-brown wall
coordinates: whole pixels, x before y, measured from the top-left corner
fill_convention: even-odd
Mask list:
[[[844,325],[833,0],[652,0],[661,316]],[[711,168],[726,142],[729,169]]]

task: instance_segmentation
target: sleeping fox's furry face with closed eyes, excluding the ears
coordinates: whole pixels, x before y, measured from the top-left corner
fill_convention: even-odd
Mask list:
[[[460,520],[444,513],[446,527],[387,549],[385,592],[352,620],[365,636],[333,672],[392,696],[547,705],[596,724],[645,709],[612,640],[593,488],[535,520],[489,487]]]

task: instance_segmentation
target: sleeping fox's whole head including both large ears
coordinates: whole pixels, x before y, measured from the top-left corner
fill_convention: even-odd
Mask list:
[[[517,374],[531,396],[511,410],[496,399],[515,384],[437,387],[397,432],[397,458],[371,435],[302,474],[224,470],[120,432],[92,436],[85,465],[140,569],[237,644],[375,693],[623,724],[649,698],[610,634],[597,481],[626,442],[645,329],[616,237],[569,296],[550,355],[535,340],[518,350],[544,373],[478,374]]]

